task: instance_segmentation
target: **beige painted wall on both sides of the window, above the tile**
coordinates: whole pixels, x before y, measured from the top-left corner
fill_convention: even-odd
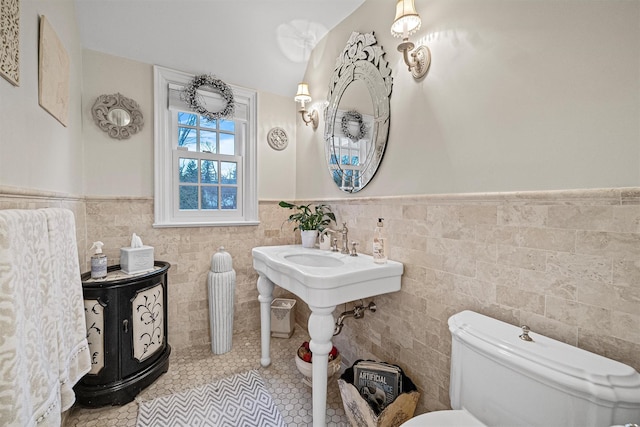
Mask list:
[[[153,196],[154,100],[153,67],[137,61],[83,50],[82,93],[85,145],[85,190],[90,196]],[[229,82],[233,84],[233,82]],[[95,125],[91,107],[102,94],[135,100],[144,115],[141,132],[129,139],[110,138]],[[258,196],[260,199],[295,197],[296,127],[293,99],[258,93]],[[281,127],[289,136],[282,151],[267,144],[267,132]],[[105,179],[109,177],[109,179]],[[102,238],[102,237],[100,237]]]

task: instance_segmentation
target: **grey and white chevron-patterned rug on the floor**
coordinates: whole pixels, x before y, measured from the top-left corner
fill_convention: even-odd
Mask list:
[[[136,427],[286,427],[260,374],[248,371],[141,402]]]

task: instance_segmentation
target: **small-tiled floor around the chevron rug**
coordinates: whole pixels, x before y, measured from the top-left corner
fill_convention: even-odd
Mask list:
[[[308,340],[305,331],[296,327],[289,339],[271,339],[271,366],[260,366],[260,332],[237,334],[231,351],[215,355],[209,346],[172,351],[169,371],[143,390],[136,400],[188,390],[233,374],[256,369],[265,381],[282,417],[290,427],[311,425],[311,388],[302,383],[302,374],[295,365],[295,354],[300,344]],[[342,406],[336,375],[328,382],[327,425],[349,425]],[[138,403],[103,408],[73,407],[65,427],[135,427]],[[256,426],[259,427],[259,426]]]

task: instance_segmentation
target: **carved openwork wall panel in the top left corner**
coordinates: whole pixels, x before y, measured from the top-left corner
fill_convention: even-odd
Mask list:
[[[0,75],[20,84],[20,0],[0,0]]]

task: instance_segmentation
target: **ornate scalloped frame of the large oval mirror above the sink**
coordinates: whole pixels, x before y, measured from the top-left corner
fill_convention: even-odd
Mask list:
[[[371,160],[369,160],[369,157],[365,159],[365,164],[369,164],[362,171],[361,179],[364,172],[369,172],[370,177],[359,187],[352,186],[350,189],[339,187],[347,193],[358,192],[371,182],[382,161],[389,137],[391,120],[389,97],[393,88],[393,77],[391,77],[389,62],[384,58],[385,52],[382,46],[377,43],[373,32],[358,33],[354,31],[351,33],[347,45],[336,60],[336,66],[329,82],[324,139],[327,167],[332,180],[336,171],[336,169],[331,168],[331,158],[335,154],[333,138],[335,133],[342,127],[341,123],[336,123],[336,116],[344,92],[351,83],[360,80],[366,85],[373,103],[374,122],[370,132],[370,138],[374,144],[373,152],[370,155],[373,158]],[[340,174],[344,174],[339,162],[337,170]]]

